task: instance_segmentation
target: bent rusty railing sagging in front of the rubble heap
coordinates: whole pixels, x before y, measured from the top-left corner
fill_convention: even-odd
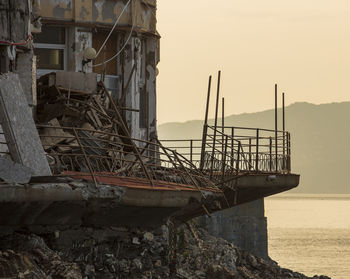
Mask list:
[[[157,140],[144,141],[83,128],[48,125],[37,128],[55,175],[75,171],[93,177],[143,178],[151,185],[158,181],[215,187],[190,160]]]

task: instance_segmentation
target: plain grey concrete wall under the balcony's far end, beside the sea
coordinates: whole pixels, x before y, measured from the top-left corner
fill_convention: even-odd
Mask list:
[[[214,213],[211,218],[199,217],[198,222],[210,234],[222,237],[259,257],[268,258],[263,199]]]

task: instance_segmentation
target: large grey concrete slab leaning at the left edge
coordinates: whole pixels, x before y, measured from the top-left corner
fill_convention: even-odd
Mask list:
[[[0,121],[12,159],[31,168],[33,176],[51,175],[17,74],[0,75]]]

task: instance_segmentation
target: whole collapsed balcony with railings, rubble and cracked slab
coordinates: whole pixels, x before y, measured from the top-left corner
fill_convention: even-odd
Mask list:
[[[57,76],[65,74],[39,79],[34,114],[52,175],[2,183],[0,210],[11,214],[2,215],[0,224],[157,226],[298,185],[288,132],[205,125],[202,140],[136,139],[123,113],[134,109],[103,82],[91,83],[88,74],[74,73],[87,90],[61,86]],[[13,157],[9,142],[1,151]]]

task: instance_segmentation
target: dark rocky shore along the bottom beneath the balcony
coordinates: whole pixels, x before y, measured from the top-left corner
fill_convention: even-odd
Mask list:
[[[192,223],[170,235],[168,226],[154,231],[77,228],[3,235],[0,278],[329,279],[281,268]]]

